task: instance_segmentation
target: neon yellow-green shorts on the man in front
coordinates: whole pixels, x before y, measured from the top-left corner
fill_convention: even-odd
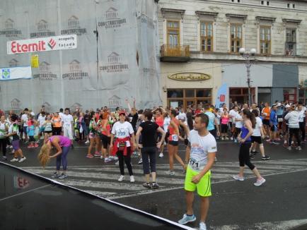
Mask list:
[[[198,174],[198,171],[194,171],[190,166],[187,167],[187,174],[185,174],[185,190],[194,192],[197,189],[198,195],[202,197],[211,196],[211,171],[207,171],[207,174],[204,174],[198,183],[193,183],[193,176]]]

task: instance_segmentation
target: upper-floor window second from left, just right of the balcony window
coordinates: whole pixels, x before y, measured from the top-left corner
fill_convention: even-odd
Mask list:
[[[200,46],[202,51],[213,51],[213,23],[201,22],[200,23]]]

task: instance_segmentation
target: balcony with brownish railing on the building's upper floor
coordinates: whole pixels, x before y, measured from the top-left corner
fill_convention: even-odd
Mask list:
[[[186,62],[190,60],[190,46],[163,44],[161,61]]]

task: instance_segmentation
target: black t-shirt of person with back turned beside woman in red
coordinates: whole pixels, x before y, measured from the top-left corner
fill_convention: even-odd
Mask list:
[[[141,131],[141,144],[143,147],[155,147],[156,146],[156,131],[159,126],[152,121],[145,121],[139,125]]]

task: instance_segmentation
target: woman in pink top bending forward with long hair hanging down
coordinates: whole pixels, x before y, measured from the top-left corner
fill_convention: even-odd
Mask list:
[[[50,150],[52,146],[57,150],[54,155],[50,155]],[[45,167],[49,162],[50,158],[57,157],[57,171],[51,176],[52,178],[64,179],[67,177],[66,168],[67,168],[67,154],[71,147],[71,140],[66,138],[63,135],[53,135],[51,138],[48,138],[38,155],[38,159],[42,167]],[[62,163],[62,174],[59,173],[59,169]]]

